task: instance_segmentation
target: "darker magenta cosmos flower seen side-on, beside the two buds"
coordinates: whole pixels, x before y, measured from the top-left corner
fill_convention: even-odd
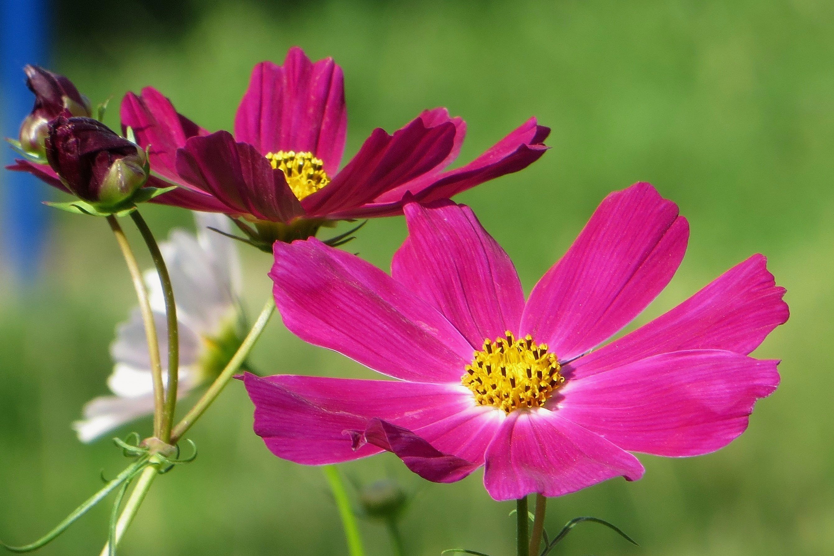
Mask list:
[[[208,133],[153,88],[128,93],[121,112],[123,126],[150,146],[153,170],[188,194],[157,202],[255,223],[402,213],[406,193],[450,198],[525,168],[545,152],[550,133],[530,118],[471,163],[445,171],[460,152],[466,124],[435,108],[393,135],[374,129],[339,170],[347,133],[342,69],[331,58],[312,63],[301,48],[290,49],[283,66],[255,66],[234,135]]]

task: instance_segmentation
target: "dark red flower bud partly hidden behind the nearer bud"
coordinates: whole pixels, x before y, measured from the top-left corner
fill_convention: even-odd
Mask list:
[[[73,116],[92,116],[89,100],[78,93],[73,82],[63,75],[52,73],[38,66],[28,65],[26,86],[35,93],[35,106],[20,126],[20,145],[23,150],[43,154],[43,143],[50,120],[64,111]]]

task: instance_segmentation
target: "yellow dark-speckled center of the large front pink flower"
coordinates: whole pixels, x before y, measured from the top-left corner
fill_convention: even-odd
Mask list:
[[[520,408],[540,408],[565,378],[559,373],[555,353],[547,344],[533,343],[528,334],[515,339],[508,330],[505,338],[484,340],[460,382],[475,394],[479,405],[492,405],[510,413]]]

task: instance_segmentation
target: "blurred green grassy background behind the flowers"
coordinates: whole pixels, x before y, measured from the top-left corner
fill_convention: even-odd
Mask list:
[[[641,543],[587,525],[560,545],[570,555],[834,553],[834,4],[170,4],[59,3],[53,68],[93,102],[113,96],[113,125],[125,90],[153,84],[205,127],[229,128],[254,63],[280,62],[299,45],[344,68],[347,155],[372,128],[393,131],[439,105],[469,123],[464,162],[530,115],[553,128],[538,163],[458,198],[510,253],[525,288],[606,193],[639,180],[691,222],[686,260],[640,322],[766,253],[791,320],[757,352],[783,360],[782,383],[748,432],[701,458],[641,456],[645,478],[553,499],[547,527],[595,515]],[[144,212],[160,237],[190,225],[174,209]],[[99,488],[100,469],[112,477],[125,464],[106,440],[78,443],[69,423],[105,392],[113,327],[134,304],[128,274],[102,220],[53,217],[42,278],[27,291],[8,280],[0,288],[0,538],[14,543]],[[387,267],[404,234],[401,218],[372,221],[349,248]],[[269,257],[243,255],[256,310],[269,295]],[[370,376],[294,338],[279,318],[254,362],[269,373]],[[251,425],[249,399],[233,383],[190,434],[197,461],[158,480],[120,553],[346,553],[323,474],[274,458]],[[480,473],[435,485],[387,455],[342,469],[359,483],[395,478],[414,493],[403,522],[411,556],[513,553],[514,505],[492,501]],[[98,553],[108,511],[96,508],[42,553]],[[390,553],[383,527],[362,529],[369,555]]]

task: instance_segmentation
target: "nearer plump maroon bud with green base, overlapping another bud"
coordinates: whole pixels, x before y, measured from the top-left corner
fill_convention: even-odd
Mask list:
[[[93,118],[53,119],[46,155],[70,191],[104,207],[126,201],[148,180],[145,153]]]

